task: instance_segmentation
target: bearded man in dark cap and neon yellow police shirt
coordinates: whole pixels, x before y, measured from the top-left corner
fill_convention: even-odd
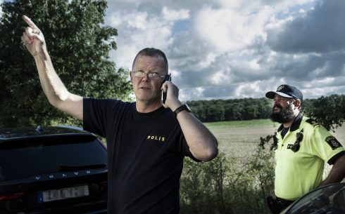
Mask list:
[[[280,213],[311,190],[341,182],[345,151],[324,126],[301,114],[303,94],[298,88],[281,85],[277,91],[266,93],[266,98],[274,101],[270,119],[281,123],[273,138],[275,192],[267,199],[271,212]],[[325,162],[333,166],[322,180]]]

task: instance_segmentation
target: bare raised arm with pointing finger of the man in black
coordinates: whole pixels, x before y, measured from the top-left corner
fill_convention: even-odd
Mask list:
[[[23,20],[28,27],[25,28],[21,39],[27,51],[35,58],[44,94],[51,105],[82,120],[82,97],[68,92],[56,74],[41,30],[26,15],[23,15]]]

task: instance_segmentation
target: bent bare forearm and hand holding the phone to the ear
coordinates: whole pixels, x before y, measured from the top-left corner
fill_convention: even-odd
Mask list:
[[[170,107],[175,111],[182,103],[178,100],[178,88],[166,81],[163,86],[163,91],[167,91],[167,99],[165,107]],[[180,123],[184,138],[193,156],[200,161],[210,161],[218,154],[218,142],[211,131],[199,121],[193,114],[182,111],[177,114],[177,120]]]

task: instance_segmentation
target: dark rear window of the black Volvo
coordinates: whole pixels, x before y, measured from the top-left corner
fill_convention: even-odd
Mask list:
[[[61,166],[105,166],[106,149],[93,136],[0,144],[0,181],[58,173]]]

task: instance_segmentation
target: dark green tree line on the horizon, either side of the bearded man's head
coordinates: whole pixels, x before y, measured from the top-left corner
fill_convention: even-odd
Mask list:
[[[273,101],[268,98],[198,100],[187,102],[192,113],[203,122],[268,119]],[[326,128],[339,126],[345,118],[345,95],[303,100],[302,112],[318,119]]]

